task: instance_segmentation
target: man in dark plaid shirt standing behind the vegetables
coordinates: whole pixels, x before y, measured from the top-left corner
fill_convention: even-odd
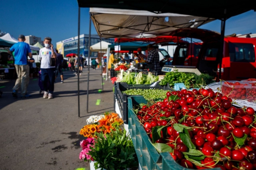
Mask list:
[[[147,47],[147,51],[149,54],[147,56],[146,63],[149,64],[149,68],[150,68],[150,65],[152,66],[154,65],[152,68],[150,68],[150,71],[155,71],[157,72],[157,75],[160,75],[161,69],[159,65],[159,54],[157,50],[153,48],[152,44],[149,44]]]

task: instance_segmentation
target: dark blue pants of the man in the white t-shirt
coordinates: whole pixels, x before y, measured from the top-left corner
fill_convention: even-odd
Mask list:
[[[53,93],[54,80],[55,80],[55,68],[41,68],[41,80],[43,82],[44,91]],[[47,83],[49,82],[49,87]]]

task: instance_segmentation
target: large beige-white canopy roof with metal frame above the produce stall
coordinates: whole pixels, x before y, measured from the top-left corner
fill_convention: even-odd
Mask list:
[[[102,38],[143,38],[169,35],[179,28],[197,28],[215,19],[173,13],[90,8],[92,22]]]

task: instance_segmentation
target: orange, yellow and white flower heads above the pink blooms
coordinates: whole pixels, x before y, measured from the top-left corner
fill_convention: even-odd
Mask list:
[[[90,117],[88,119],[90,119]],[[93,124],[85,125],[80,130],[80,135],[83,135],[84,137],[96,137],[96,132],[103,132],[104,134],[110,133],[110,129],[115,130],[124,123],[124,121],[119,118],[117,113],[105,114],[103,118],[98,119],[99,118],[95,118],[95,120],[88,120],[87,124],[88,122]]]

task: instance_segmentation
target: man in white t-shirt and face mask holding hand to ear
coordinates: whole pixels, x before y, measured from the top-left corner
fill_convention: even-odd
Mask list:
[[[52,99],[52,94],[54,91],[56,51],[53,48],[51,41],[52,39],[50,37],[45,37],[45,47],[39,50],[39,56],[41,58],[41,80],[44,87],[44,99]]]

